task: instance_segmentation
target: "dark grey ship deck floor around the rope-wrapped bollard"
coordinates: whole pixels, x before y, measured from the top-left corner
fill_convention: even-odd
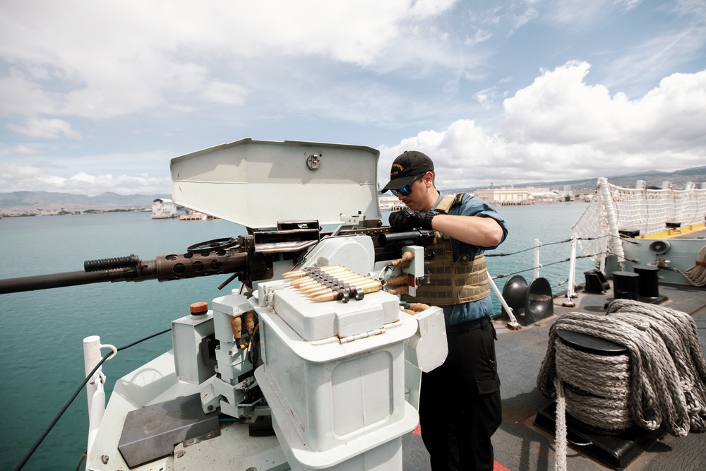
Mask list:
[[[705,351],[706,288],[659,285],[659,295],[667,298],[659,305],[683,311],[693,317],[698,328],[701,349]],[[605,312],[604,306],[612,299],[612,287],[605,294],[590,294],[579,289],[578,298],[573,299],[574,307],[563,306],[566,294],[555,295],[554,315],[520,330],[510,330],[505,327],[505,321],[495,321],[498,332],[496,352],[503,398],[503,423],[493,435],[496,471],[554,470],[554,434],[534,424],[537,415],[553,404],[553,400],[545,398],[535,386],[537,373],[546,353],[549,328],[558,316],[568,312],[602,314]],[[440,413],[453,412],[443,412],[441,405]],[[705,439],[705,434],[693,432],[684,437],[665,434],[652,441],[637,458],[623,468],[592,458],[582,451],[581,447],[569,444],[567,469],[702,470],[706,463]],[[639,450],[642,450],[642,447],[639,447]],[[414,434],[409,440],[404,453],[405,471],[431,470],[429,455],[418,434]]]

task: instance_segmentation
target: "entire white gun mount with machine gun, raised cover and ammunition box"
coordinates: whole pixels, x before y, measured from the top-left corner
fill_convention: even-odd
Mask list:
[[[176,157],[174,202],[247,234],[154,260],[133,254],[86,261],[83,272],[0,280],[0,294],[208,275],[229,275],[220,287],[241,282],[211,309],[191,304],[172,321],[173,350],[116,383],[107,409],[89,409],[87,469],[202,469],[208,460],[402,470],[421,371],[443,362],[446,342],[440,308],[400,309],[396,294],[413,294],[433,233],[383,225],[377,157],[361,146],[250,139]],[[102,407],[101,381],[91,384],[100,390],[89,407]],[[181,435],[193,417],[198,431]],[[249,433],[258,427],[276,437]]]

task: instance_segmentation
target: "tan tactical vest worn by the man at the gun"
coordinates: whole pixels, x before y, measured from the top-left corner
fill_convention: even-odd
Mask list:
[[[447,196],[435,210],[446,214],[461,202],[462,197],[463,193]],[[484,255],[471,258],[464,254],[454,260],[451,239],[438,231],[434,231],[434,243],[428,249],[436,254],[431,261],[424,261],[424,273],[429,273],[431,284],[417,287],[417,296],[403,294],[402,301],[448,306],[477,301],[490,295]]]

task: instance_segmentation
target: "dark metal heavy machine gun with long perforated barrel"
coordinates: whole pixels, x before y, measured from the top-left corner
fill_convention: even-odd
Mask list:
[[[157,256],[155,260],[140,260],[136,255],[85,261],[84,271],[52,273],[0,280],[0,294],[47,290],[50,288],[92,283],[181,280],[208,275],[232,274],[219,288],[234,278],[248,287],[273,277],[273,263],[294,259],[301,251],[318,244],[323,237],[343,237],[364,234],[373,239],[376,261],[400,256],[403,244],[428,245],[433,232],[416,229],[412,232],[391,232],[380,220],[366,220],[361,227],[321,232],[317,221],[281,222],[274,231],[249,231],[237,238],[214,239],[194,244],[185,254]]]

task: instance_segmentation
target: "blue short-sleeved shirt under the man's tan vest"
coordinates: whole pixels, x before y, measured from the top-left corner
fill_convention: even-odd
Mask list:
[[[434,203],[431,209],[436,208],[438,203],[441,202],[443,196],[439,195],[438,200]],[[461,204],[455,205],[448,212],[450,215],[462,215],[462,216],[482,216],[482,217],[492,217],[494,220],[503,228],[503,238],[500,243],[502,244],[505,237],[508,237],[508,228],[505,226],[505,220],[501,217],[498,212],[493,209],[491,205],[481,200],[477,196],[464,195]],[[500,244],[498,244],[500,245]],[[477,245],[466,244],[465,242],[460,242],[456,239],[451,239],[451,248],[453,249],[453,259],[457,260],[459,256],[463,254],[468,254],[473,258],[474,256],[483,254],[486,250],[495,249],[496,246],[492,247],[481,247]],[[447,326],[454,326],[455,324],[460,324],[467,321],[474,321],[475,319],[483,318],[486,316],[493,315],[493,300],[490,296],[486,296],[478,301],[465,302],[461,304],[453,304],[450,306],[441,306],[443,309],[443,314],[445,318],[445,323]]]

